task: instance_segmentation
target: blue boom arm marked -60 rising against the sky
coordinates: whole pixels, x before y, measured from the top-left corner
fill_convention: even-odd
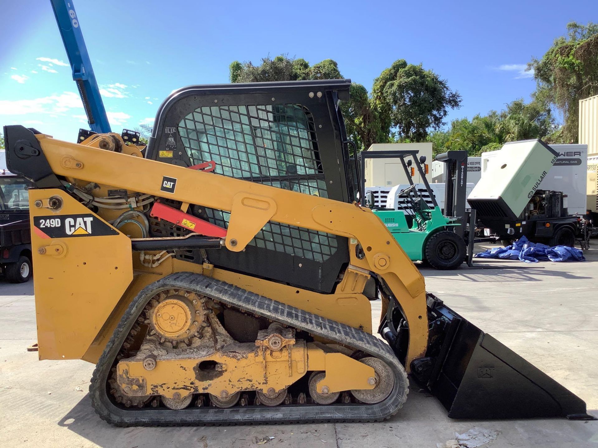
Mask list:
[[[108,115],[97,87],[75,6],[72,0],[50,0],[50,3],[90,128],[94,133],[109,133]]]

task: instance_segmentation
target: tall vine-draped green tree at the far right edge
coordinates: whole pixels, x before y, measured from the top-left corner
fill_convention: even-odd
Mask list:
[[[598,94],[598,24],[567,24],[567,35],[554,40],[534,70],[536,96],[563,114],[563,128],[551,137],[559,143],[578,141],[579,100]]]

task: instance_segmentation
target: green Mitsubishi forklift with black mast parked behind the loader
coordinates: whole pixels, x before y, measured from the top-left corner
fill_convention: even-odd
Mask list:
[[[444,214],[438,206],[434,192],[426,179],[425,169],[422,167],[425,166],[426,157],[421,156],[418,159],[418,152],[409,150],[361,152],[358,155],[361,193],[363,193],[361,205],[372,208],[374,214],[382,220],[412,261],[427,263],[435,269],[456,269],[463,262],[471,265],[473,241],[469,238],[469,232],[466,232],[466,222],[469,219],[465,212],[466,151],[451,151],[437,157],[437,160],[447,163]],[[409,186],[396,192],[399,199],[397,203],[401,204],[398,210],[375,207],[373,193],[365,193],[365,159],[378,158],[399,159],[405,171]],[[428,204],[419,194],[417,185],[412,179],[415,170],[419,172],[432,204]],[[460,216],[445,216],[456,211],[460,212]],[[466,244],[466,241],[471,243]]]

